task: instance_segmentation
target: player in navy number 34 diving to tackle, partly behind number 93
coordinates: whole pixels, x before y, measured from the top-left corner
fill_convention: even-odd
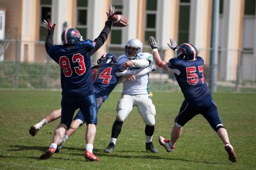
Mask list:
[[[126,75],[144,75],[150,71],[155,71],[155,66],[151,65],[147,68],[141,68],[137,70],[125,70],[122,71],[121,65],[118,65],[117,59],[111,53],[105,53],[101,55],[100,59],[97,61],[98,65],[91,68],[92,73],[92,83],[97,99],[98,109],[101,107],[103,102],[108,98],[111,91],[117,86],[118,83],[122,83]],[[61,108],[54,110],[49,116],[44,118],[41,122],[33,125],[29,132],[32,136],[35,136],[36,133],[42,128],[42,126],[55,121],[61,117]],[[85,119],[81,110],[73,119],[71,126],[66,130],[65,135],[61,138],[60,143],[58,144],[56,152],[60,152],[65,141],[70,137],[79,126],[85,123]]]

